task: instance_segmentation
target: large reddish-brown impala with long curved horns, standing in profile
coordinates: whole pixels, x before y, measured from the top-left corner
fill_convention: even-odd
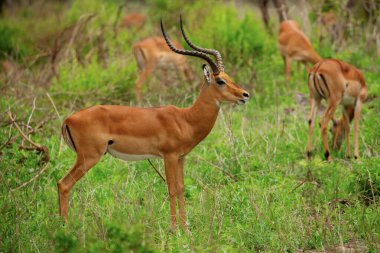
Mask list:
[[[176,223],[177,198],[180,221],[187,229],[183,195],[185,157],[214,127],[221,102],[244,104],[249,94],[224,72],[220,53],[194,45],[185,34],[182,19],[180,24],[183,37],[194,50],[176,48],[166,35],[162,21],[161,30],[175,53],[201,58],[211,67],[212,72],[203,65],[205,79],[199,97],[188,108],[99,105],[65,119],[62,136],[77,154],[73,167],[58,182],[59,213],[66,222],[70,190],[105,153],[109,153],[127,161],[164,159],[171,227]]]

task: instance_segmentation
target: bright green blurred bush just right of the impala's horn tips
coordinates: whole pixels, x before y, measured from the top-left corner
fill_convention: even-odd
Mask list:
[[[234,8],[215,5],[203,18],[201,26],[187,28],[188,31],[191,30],[191,38],[203,47],[220,51],[227,64],[251,62],[266,49],[265,30],[251,13],[246,13],[243,19],[239,19]],[[197,17],[188,23],[199,24],[195,19]],[[270,49],[269,52],[271,51]]]

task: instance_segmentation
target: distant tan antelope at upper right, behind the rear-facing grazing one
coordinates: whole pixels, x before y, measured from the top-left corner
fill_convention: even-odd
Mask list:
[[[278,48],[284,60],[287,81],[290,80],[292,72],[292,60],[302,62],[309,69],[308,63],[314,65],[322,59],[294,20],[286,20],[280,24]],[[298,71],[299,67],[298,63]]]

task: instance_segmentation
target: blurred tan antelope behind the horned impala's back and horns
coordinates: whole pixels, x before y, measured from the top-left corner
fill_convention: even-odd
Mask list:
[[[172,43],[176,48],[183,50],[180,43],[176,41]],[[173,53],[162,37],[150,37],[136,43],[133,45],[133,54],[140,72],[135,84],[136,99],[139,103],[141,102],[141,86],[156,68],[170,70],[174,66],[182,80],[193,81],[186,57]]]

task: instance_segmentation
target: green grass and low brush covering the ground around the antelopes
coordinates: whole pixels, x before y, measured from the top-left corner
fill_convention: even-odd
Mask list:
[[[348,41],[337,50],[312,37],[322,56],[363,71],[369,99],[361,121],[361,157],[346,159],[344,144],[333,152],[332,162],[323,161],[316,128],[314,157],[308,161],[305,70],[294,71],[285,83],[276,37],[265,31],[251,6],[147,2],[129,3],[121,11],[149,16],[139,31],[117,26],[117,1],[5,11],[0,29],[10,35],[0,35],[0,46],[12,59],[13,72],[0,76],[0,251],[294,252],[335,251],[343,245],[378,251],[380,59],[366,41]],[[63,226],[56,183],[75,154],[60,142],[61,120],[94,104],[136,105],[131,45],[159,35],[161,15],[171,36],[178,36],[179,6],[191,38],[220,50],[226,72],[253,95],[245,106],[223,105],[211,134],[187,157],[185,196],[192,235],[169,233],[166,185],[147,161],[124,163],[109,155],[75,186],[70,223]],[[190,63],[200,82],[202,63]],[[143,103],[188,106],[197,95],[190,87],[163,85],[156,74],[143,90]],[[10,124],[8,107],[24,131],[27,125],[35,129],[30,137],[50,155],[41,176],[13,191],[45,165],[40,153],[19,148],[22,138]],[[153,162],[163,173],[162,161]]]

